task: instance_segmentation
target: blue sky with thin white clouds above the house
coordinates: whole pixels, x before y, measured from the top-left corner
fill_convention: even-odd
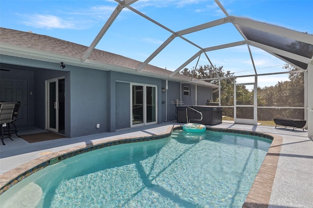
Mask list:
[[[220,0],[229,15],[313,34],[313,0]],[[118,3],[115,0],[0,0],[0,26],[89,46]],[[131,6],[176,32],[225,17],[214,0],[138,0]],[[172,33],[125,8],[96,48],[144,62]],[[202,48],[243,41],[231,23],[187,34]],[[250,46],[258,74],[285,71],[285,62]],[[175,38],[149,64],[174,71],[199,51]],[[235,75],[254,74],[246,45],[207,52],[211,62]],[[210,64],[202,54],[186,67]],[[253,78],[254,79],[254,78]],[[288,80],[288,75],[260,76],[258,86]],[[240,82],[251,83],[251,78]]]

